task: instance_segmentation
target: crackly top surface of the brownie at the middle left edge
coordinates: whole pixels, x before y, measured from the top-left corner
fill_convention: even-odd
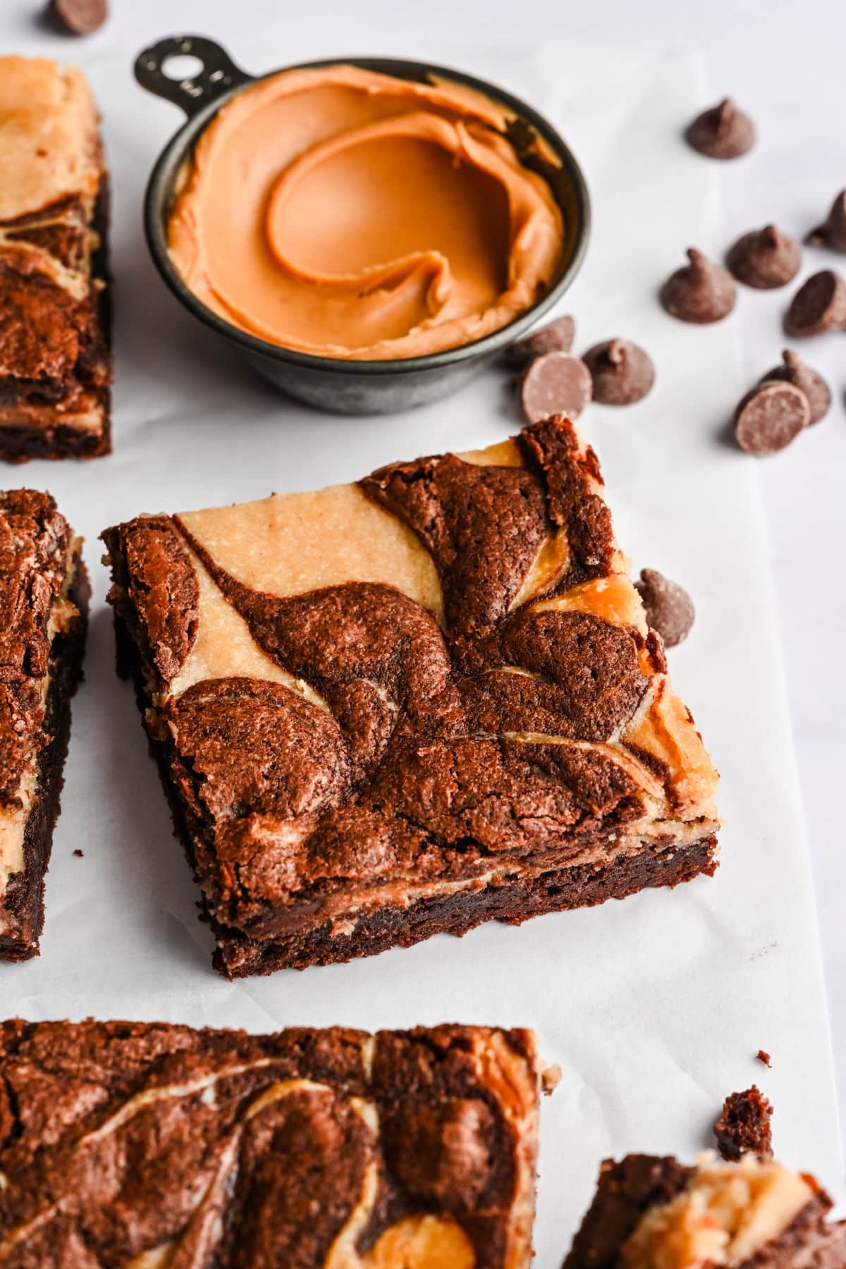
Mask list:
[[[43,732],[49,650],[57,623],[70,615],[60,596],[72,546],[49,494],[0,492],[0,900],[9,876],[24,865],[24,786],[49,740]]]

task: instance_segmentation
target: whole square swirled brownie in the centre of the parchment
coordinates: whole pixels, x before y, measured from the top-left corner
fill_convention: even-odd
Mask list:
[[[714,871],[717,775],[563,416],[104,541],[228,976]]]

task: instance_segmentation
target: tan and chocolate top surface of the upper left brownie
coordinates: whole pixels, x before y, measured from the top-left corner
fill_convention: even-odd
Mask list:
[[[85,76],[0,57],[0,377],[30,391],[66,379],[98,339],[90,221],[103,170]]]

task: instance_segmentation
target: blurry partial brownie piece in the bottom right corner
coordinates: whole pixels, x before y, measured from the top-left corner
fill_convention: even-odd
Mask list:
[[[843,1269],[831,1206],[813,1176],[752,1154],[606,1159],[563,1269]]]

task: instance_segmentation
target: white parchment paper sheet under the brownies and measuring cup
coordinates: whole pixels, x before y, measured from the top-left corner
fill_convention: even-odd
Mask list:
[[[131,24],[124,16],[134,39]],[[231,52],[254,70],[326,53],[313,42],[292,47],[283,25],[279,10],[261,43]],[[94,602],[42,956],[0,966],[0,1011],[254,1030],[452,1019],[531,1025],[563,1072],[542,1113],[540,1269],[559,1264],[601,1157],[690,1156],[708,1143],[723,1096],[752,1081],[776,1104],[779,1155],[837,1193],[822,975],[757,475],[726,438],[746,385],[731,320],[689,327],[656,302],[686,246],[714,254],[724,246],[718,171],[680,140],[701,105],[698,61],[554,47],[426,49],[533,102],[572,142],[595,209],[589,260],[564,306],[577,316],[577,350],[625,335],[657,362],[644,402],[616,412],[594,406],[582,429],[602,461],[635,569],[667,572],[696,602],[694,631],[670,659],[723,774],[717,878],[521,929],[492,924],[460,942],[440,937],[349,966],[227,983],[211,970],[211,937],[197,920],[197,892],[131,689],[114,675],[98,533],[138,511],[308,489],[392,459],[476,448],[520,420],[497,372],[416,414],[322,416],[254,378],[171,299],[141,230],[146,175],[179,123],[174,107],[131,77],[132,57],[151,34],[117,51],[108,34],[22,49],[68,56],[72,47],[103,109],[114,179],[118,378],[112,458],[33,463],[4,477],[56,494],[85,534]],[[760,1047],[772,1055],[769,1071],[755,1061]]]

